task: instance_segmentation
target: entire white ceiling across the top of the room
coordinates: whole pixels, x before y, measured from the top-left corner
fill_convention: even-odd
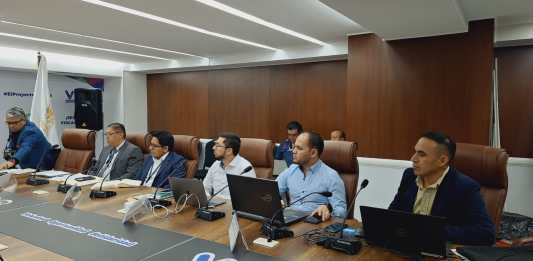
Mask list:
[[[498,24],[533,22],[533,0],[218,0],[293,31],[332,43],[346,35],[374,32],[402,39],[467,31],[468,21],[501,18]],[[107,0],[131,9],[277,49],[316,46],[224,13],[194,0]],[[80,0],[0,0],[0,19],[203,57],[269,50],[122,13]],[[0,33],[157,56],[184,55],[98,39],[0,23]],[[533,36],[532,36],[533,38]],[[0,36],[0,46],[102,58],[124,63],[158,60],[102,50]],[[1,55],[1,54],[0,54]]]

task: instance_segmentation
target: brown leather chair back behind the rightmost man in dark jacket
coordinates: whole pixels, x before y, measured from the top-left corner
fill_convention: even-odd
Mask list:
[[[507,198],[507,160],[509,155],[503,149],[489,146],[457,143],[452,165],[481,186],[487,212],[496,226]]]

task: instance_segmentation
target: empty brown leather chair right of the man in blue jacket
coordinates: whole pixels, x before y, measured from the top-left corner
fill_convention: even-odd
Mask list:
[[[96,133],[86,129],[64,129],[61,135],[63,149],[54,169],[71,173],[87,170],[94,156]]]

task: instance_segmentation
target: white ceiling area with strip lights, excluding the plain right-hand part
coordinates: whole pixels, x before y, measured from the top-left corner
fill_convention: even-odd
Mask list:
[[[283,49],[289,46],[314,45],[224,13],[194,0],[111,0],[108,2],[274,48]],[[347,33],[364,31],[353,21],[317,0],[222,0],[219,2],[324,42],[338,41],[346,38]],[[170,49],[204,57],[261,50],[257,47],[208,36],[77,0],[0,0],[0,17],[22,24]],[[44,30],[27,29],[16,25],[0,24],[0,32],[81,43],[171,59],[181,58],[180,55],[101,40],[72,37]],[[2,36],[0,36],[0,45],[22,48],[42,46],[42,49],[46,50],[54,48],[49,44],[29,43],[26,40],[13,40]],[[65,51],[71,52],[70,48],[61,46],[56,46],[54,50],[56,49],[68,49]],[[79,50],[80,52],[93,57],[107,57],[108,59],[127,63],[153,60],[129,55],[109,54],[101,51]]]

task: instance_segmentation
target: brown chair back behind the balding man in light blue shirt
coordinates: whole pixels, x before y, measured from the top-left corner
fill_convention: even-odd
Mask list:
[[[329,167],[336,170],[344,181],[346,189],[346,204],[349,207],[351,200],[357,192],[359,178],[359,163],[356,154],[357,146],[352,141],[324,141],[324,151],[320,159]],[[348,218],[352,218],[351,213]]]

